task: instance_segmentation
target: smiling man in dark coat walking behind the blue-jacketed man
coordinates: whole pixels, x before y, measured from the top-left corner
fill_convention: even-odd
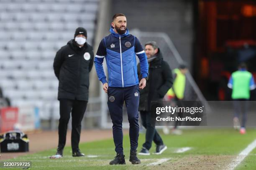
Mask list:
[[[146,128],[146,141],[138,155],[150,155],[152,141],[156,144],[156,152],[161,154],[167,149],[161,136],[155,128],[155,118],[151,115],[151,101],[161,102],[167,90],[172,87],[172,71],[156,42],[150,41],[145,44],[145,52],[148,58],[148,78],[146,87],[140,91],[139,111],[142,125]],[[138,64],[138,75],[141,79],[140,64]],[[153,123],[154,122],[154,123]]]

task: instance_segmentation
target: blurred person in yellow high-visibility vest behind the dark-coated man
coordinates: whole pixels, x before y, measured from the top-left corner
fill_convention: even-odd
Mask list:
[[[174,77],[174,83],[172,88],[170,88],[167,92],[168,100],[172,102],[173,107],[178,105],[178,107],[182,107],[182,100],[184,99],[184,92],[186,86],[186,72],[187,66],[185,64],[179,65],[179,68],[176,68],[172,71]],[[182,117],[182,112],[178,113],[178,117]],[[182,131],[177,129],[179,125],[179,121],[175,121],[174,128],[172,133],[175,135],[181,135]],[[169,134],[168,126],[164,126],[163,128],[164,134]]]

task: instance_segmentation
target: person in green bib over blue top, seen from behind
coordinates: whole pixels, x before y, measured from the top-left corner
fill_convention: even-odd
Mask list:
[[[246,101],[250,99],[250,90],[255,89],[254,78],[251,72],[247,71],[247,66],[245,63],[241,63],[238,70],[233,72],[228,81],[228,87],[232,89],[231,98],[234,101],[234,128],[239,129],[239,113],[242,112],[242,124],[240,128],[240,133],[246,133],[246,112],[248,109],[248,104]],[[242,110],[243,108],[243,110]]]

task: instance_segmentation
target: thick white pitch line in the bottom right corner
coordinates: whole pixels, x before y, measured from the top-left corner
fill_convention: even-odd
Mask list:
[[[234,170],[237,165],[239,165],[244,158],[256,147],[256,140],[254,140],[252,143],[250,143],[244,150],[242,150],[241,153],[236,157],[235,160],[230,163],[228,166],[228,170]]]

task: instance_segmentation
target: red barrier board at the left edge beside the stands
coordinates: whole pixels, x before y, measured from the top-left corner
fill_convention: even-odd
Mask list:
[[[13,130],[13,126],[18,122],[18,107],[0,108],[0,133]]]

